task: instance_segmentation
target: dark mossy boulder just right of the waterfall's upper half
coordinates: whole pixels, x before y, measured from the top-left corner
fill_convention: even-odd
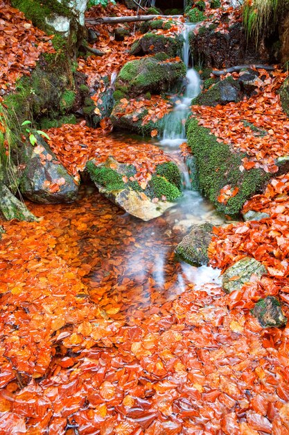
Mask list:
[[[237,103],[241,99],[240,84],[229,76],[224,80],[218,81],[208,90],[201,92],[198,97],[193,99],[192,104],[200,106],[217,106],[234,102]]]

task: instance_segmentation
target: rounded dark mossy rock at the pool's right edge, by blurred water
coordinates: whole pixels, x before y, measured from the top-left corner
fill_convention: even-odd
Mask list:
[[[211,243],[213,225],[209,223],[193,225],[191,231],[185,236],[177,248],[175,256],[194,266],[209,263],[208,247]]]

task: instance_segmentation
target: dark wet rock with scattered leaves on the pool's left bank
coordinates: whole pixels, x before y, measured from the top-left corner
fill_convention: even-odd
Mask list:
[[[20,191],[33,202],[56,204],[73,202],[78,194],[78,182],[60,164],[49,145],[35,134],[37,144],[26,142],[21,147]]]

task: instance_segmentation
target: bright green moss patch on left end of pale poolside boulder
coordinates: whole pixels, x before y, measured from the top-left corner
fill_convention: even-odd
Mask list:
[[[103,186],[108,192],[125,189],[121,175],[110,167],[96,166],[93,161],[88,161],[87,170],[91,180]]]

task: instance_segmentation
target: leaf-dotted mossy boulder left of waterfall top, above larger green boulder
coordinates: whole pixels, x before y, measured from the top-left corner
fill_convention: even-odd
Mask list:
[[[166,53],[170,58],[181,56],[184,38],[182,35],[174,36],[157,35],[150,32],[141,36],[132,44],[130,54],[143,56],[146,54]]]

